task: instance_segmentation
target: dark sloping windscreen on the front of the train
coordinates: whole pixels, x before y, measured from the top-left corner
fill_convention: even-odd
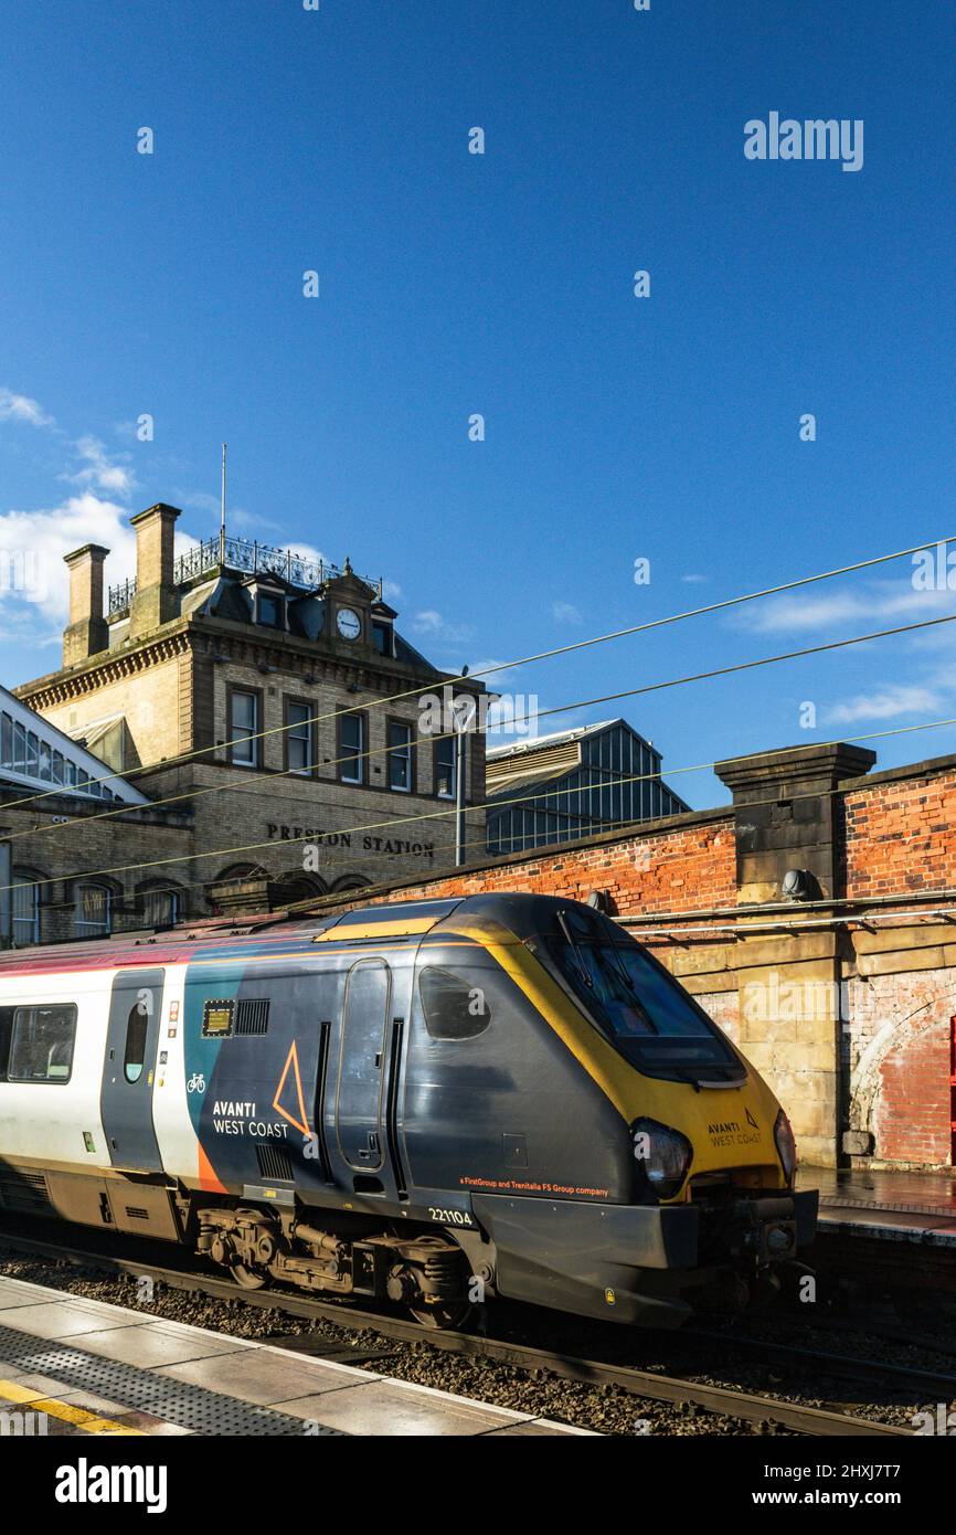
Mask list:
[[[559,916],[546,950],[602,1033],[649,1076],[740,1079],[717,1024],[657,959],[621,935],[605,936],[574,912]]]

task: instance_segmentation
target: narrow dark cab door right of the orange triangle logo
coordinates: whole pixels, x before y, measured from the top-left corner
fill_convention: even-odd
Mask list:
[[[339,1151],[358,1191],[401,1194],[394,1102],[401,1070],[405,970],[359,959],[345,978],[335,1098]]]

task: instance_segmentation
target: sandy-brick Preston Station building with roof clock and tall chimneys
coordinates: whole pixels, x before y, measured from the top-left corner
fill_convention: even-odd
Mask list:
[[[419,698],[453,678],[399,632],[382,582],[233,537],[176,557],[178,516],[158,503],[132,519],[134,580],[106,586],[100,545],[66,557],[63,665],[15,689],[178,838],[153,869],[107,881],[114,906],[134,921],[152,887],[160,921],[275,909],[454,863],[456,754],[479,806],[483,738],[420,729]],[[480,683],[456,682],[463,692],[477,714]],[[92,850],[54,824],[29,840],[31,867],[55,864],[66,889]],[[110,846],[95,866],[150,861],[118,818],[97,824]],[[483,837],[480,809],[468,835]]]

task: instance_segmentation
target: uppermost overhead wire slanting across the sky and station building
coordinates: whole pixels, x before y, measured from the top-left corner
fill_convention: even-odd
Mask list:
[[[786,591],[795,591],[799,586],[812,586],[812,585],[815,585],[818,582],[833,580],[838,576],[850,576],[850,574],[855,574],[856,571],[872,569],[876,565],[885,565],[885,563],[888,563],[892,560],[905,559],[907,556],[924,553],[927,548],[931,548],[931,546],[936,546],[936,548],[941,546],[941,545],[945,546],[945,545],[948,545],[951,542],[951,537],[953,536],[948,534],[945,539],[924,539],[922,543],[915,543],[915,545],[911,545],[910,548],[905,548],[905,550],[895,550],[890,554],[875,554],[875,556],[870,556],[865,560],[855,560],[850,565],[841,565],[841,566],[836,566],[835,569],[818,571],[818,573],[810,574],[810,576],[798,576],[793,580],[780,582],[775,586],[764,586],[760,591],[741,593],[737,597],[723,597],[718,602],[704,603],[703,606],[698,606],[698,608],[686,608],[681,612],[666,614],[661,619],[648,619],[644,623],[628,625],[626,628],[621,628],[621,629],[612,629],[608,634],[595,634],[595,635],[591,635],[589,639],[585,639],[585,640],[572,640],[568,645],[557,645],[557,646],[552,646],[551,649],[537,651],[532,655],[517,657],[516,660],[496,662],[493,665],[482,666],[480,669],[477,669],[474,672],[460,672],[457,675],[440,674],[439,672],[436,675],[436,678],[434,678],[434,683],[424,682],[424,683],[416,685],[414,688],[405,689],[404,692],[393,692],[393,694],[387,694],[387,695],[384,695],[381,698],[371,698],[367,705],[362,703],[362,705],[351,705],[351,706],[348,706],[345,709],[331,709],[327,714],[315,715],[312,723],[321,723],[322,720],[335,720],[335,718],[341,718],[341,717],[344,717],[347,714],[365,712],[367,709],[384,708],[385,705],[393,705],[393,703],[397,703],[397,701],[401,701],[404,698],[417,698],[422,694],[428,694],[430,688],[436,686],[436,685],[453,686],[454,683],[474,682],[477,677],[490,677],[490,675],[493,675],[496,672],[500,672],[500,671],[511,671],[516,666],[529,666],[529,665],[532,665],[536,662],[551,660],[551,659],[554,659],[557,655],[569,655],[569,654],[572,654],[575,651],[583,651],[583,649],[588,649],[588,648],[595,646],[595,645],[608,645],[612,640],[628,639],[629,635],[634,635],[634,634],[648,634],[652,629],[666,628],[668,625],[672,625],[672,623],[683,623],[687,619],[698,619],[698,617],[703,617],[703,616],[710,614],[710,612],[721,612],[721,611],[726,611],[727,608],[741,606],[743,603],[747,603],[747,602],[757,602],[757,600],[760,600],[763,597],[776,597],[776,596],[781,596]],[[292,726],[287,725],[287,723],[285,725],[275,725],[275,726],[270,726],[269,729],[256,731],[252,735],[242,735],[241,740],[242,741],[264,740],[265,737],[270,737],[270,735],[282,735],[290,728]],[[175,768],[175,766],[178,766],[181,763],[192,761],[196,757],[209,757],[210,752],[224,751],[224,749],[227,749],[230,746],[235,746],[238,740],[239,740],[239,737],[233,737],[233,738],[230,738],[227,741],[218,741],[215,746],[196,746],[196,748],[192,748],[187,752],[180,752],[175,757],[167,757],[167,758],[163,758],[163,760],[160,760],[157,763],[147,763],[147,764],[143,764],[140,768],[132,768],[129,772],[123,772],[123,774],[121,772],[109,772],[109,774],[104,774],[100,778],[91,778],[89,781],[91,783],[110,783],[114,778],[129,780],[129,778],[141,777],[143,774],[147,774],[147,772],[157,772],[160,769],[164,771],[167,768]],[[61,786],[57,786],[57,787],[52,787],[52,789],[41,789],[37,794],[25,795],[20,800],[8,801],[6,809],[14,809],[15,806],[21,806],[21,804],[31,804],[35,800],[51,798],[52,795],[57,795],[57,794],[61,794],[61,792],[63,792]]]

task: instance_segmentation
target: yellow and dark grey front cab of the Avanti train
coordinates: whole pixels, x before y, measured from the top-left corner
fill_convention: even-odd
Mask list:
[[[793,1190],[786,1114],[623,929],[579,903],[477,896],[416,969],[410,1171],[470,1191],[499,1294],[680,1326],[695,1300],[799,1271],[816,1193]]]

